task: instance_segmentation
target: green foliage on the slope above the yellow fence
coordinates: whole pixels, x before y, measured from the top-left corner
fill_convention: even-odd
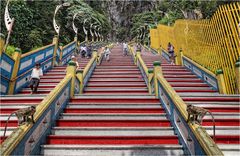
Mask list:
[[[132,17],[133,26],[131,28],[132,36],[138,35],[139,29],[144,23],[149,25],[165,24],[173,25],[177,19],[209,19],[217,10],[219,5],[230,3],[232,1],[203,1],[203,0],[163,0],[157,1],[155,9],[134,14]],[[145,30],[148,31],[149,30]],[[147,35],[145,39],[147,40]]]

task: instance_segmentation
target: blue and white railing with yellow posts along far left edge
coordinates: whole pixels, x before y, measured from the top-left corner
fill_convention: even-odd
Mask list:
[[[43,72],[56,64],[66,64],[75,52],[77,40],[59,48],[56,37],[53,43],[25,54],[16,48],[13,57],[5,52],[0,54],[1,94],[14,94],[29,84],[31,71],[36,63],[41,63]],[[55,49],[57,48],[57,49]],[[56,51],[56,55],[54,52]],[[55,62],[56,61],[56,62]]]

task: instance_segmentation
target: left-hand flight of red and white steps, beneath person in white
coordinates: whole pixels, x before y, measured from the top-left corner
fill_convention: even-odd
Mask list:
[[[88,63],[89,59],[79,59],[79,66],[84,68]],[[35,94],[31,93],[31,88],[23,88],[19,93],[14,95],[5,95],[0,97],[0,136],[1,143],[7,136],[9,136],[14,129],[17,128],[17,117],[13,116],[10,118],[8,123],[8,128],[6,131],[6,137],[3,138],[4,127],[8,116],[16,110],[21,108],[36,106],[38,105],[44,97],[49,94],[57,84],[64,78],[66,75],[66,66],[54,67],[48,72],[44,73],[41,77],[38,92]]]

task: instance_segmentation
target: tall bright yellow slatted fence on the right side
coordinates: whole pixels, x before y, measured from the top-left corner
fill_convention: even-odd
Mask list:
[[[158,33],[156,29],[150,32],[154,33],[151,47],[167,49],[171,42],[179,64],[182,49],[183,55],[213,73],[222,69],[227,93],[235,93],[234,66],[240,56],[239,17],[240,3],[237,2],[220,6],[209,20],[177,20],[173,27],[158,25]]]

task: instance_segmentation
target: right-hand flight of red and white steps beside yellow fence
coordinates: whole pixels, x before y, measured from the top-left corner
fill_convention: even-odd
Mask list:
[[[209,109],[216,122],[216,143],[226,155],[240,155],[239,95],[222,95],[213,90],[187,68],[171,65],[164,58],[150,52],[142,53],[149,68],[154,61],[161,61],[163,75],[187,104]],[[203,126],[213,135],[211,116],[205,116]]]

